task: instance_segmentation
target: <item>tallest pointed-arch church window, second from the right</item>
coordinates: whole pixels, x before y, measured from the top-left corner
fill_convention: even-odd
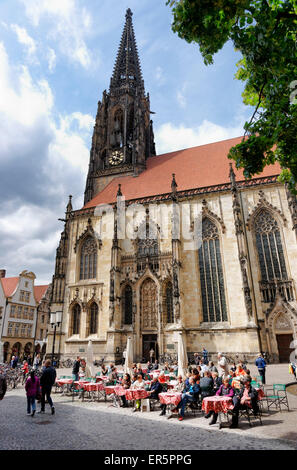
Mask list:
[[[227,321],[219,231],[216,224],[208,217],[202,221],[202,243],[198,257],[203,321]]]

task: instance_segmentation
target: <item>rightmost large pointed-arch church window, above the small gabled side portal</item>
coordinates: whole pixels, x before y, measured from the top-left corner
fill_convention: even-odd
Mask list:
[[[288,279],[278,223],[262,209],[255,218],[254,230],[262,281]]]

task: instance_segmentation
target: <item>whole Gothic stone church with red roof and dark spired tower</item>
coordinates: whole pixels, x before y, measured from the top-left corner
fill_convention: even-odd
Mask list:
[[[85,203],[66,207],[51,311],[60,357],[288,361],[297,339],[297,203],[275,164],[245,180],[227,158],[241,137],[156,155],[132,25],[98,104]],[[50,330],[49,350],[53,329]],[[57,349],[55,349],[57,351]]]

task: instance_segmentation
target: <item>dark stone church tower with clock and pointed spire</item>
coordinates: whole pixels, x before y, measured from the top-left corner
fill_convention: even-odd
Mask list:
[[[110,81],[103,92],[94,127],[85,204],[113,178],[138,175],[155,155],[149,94],[145,94],[132,11],[126,22]]]

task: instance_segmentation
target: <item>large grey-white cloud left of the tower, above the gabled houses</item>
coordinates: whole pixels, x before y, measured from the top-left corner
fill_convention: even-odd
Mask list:
[[[11,276],[32,270],[38,282],[53,274],[57,219],[73,191],[81,207],[94,124],[80,112],[56,115],[49,83],[12,66],[0,42],[0,266]]]

